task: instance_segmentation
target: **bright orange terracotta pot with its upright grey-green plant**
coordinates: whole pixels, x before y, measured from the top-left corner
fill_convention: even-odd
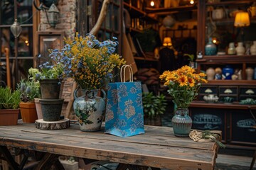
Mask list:
[[[21,79],[17,90],[21,91],[21,103],[19,103],[19,107],[21,109],[23,123],[35,123],[38,116],[34,98],[41,96],[39,82],[34,81],[33,77],[29,74],[27,80]]]

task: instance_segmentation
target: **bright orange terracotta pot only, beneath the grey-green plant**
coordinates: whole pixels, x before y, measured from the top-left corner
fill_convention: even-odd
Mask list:
[[[21,109],[21,118],[23,123],[35,123],[35,120],[38,119],[36,113],[36,103],[21,102],[19,106]]]

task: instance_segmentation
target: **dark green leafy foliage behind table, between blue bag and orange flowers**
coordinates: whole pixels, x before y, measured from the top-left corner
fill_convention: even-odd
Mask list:
[[[164,94],[155,96],[152,92],[142,93],[142,103],[147,118],[155,118],[166,111],[167,101]]]

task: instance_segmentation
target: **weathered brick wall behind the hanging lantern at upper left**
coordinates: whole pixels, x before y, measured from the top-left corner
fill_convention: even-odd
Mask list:
[[[59,0],[57,8],[60,11],[59,21],[55,28],[51,28],[48,24],[46,18],[46,12],[40,11],[41,23],[39,25],[39,30],[41,31],[52,31],[52,30],[65,30],[65,36],[74,37],[75,36],[75,26],[76,26],[76,1],[77,0]]]

